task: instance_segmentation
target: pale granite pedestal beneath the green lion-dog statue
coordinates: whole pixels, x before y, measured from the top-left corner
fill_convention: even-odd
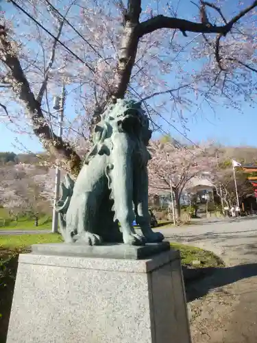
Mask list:
[[[191,343],[180,255],[168,249],[34,246],[19,257],[7,343]]]

